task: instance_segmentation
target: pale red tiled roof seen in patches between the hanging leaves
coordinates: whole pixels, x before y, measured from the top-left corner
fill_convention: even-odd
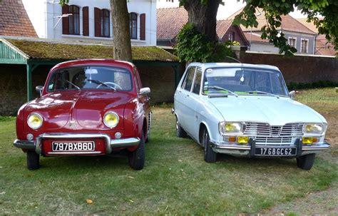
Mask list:
[[[235,16],[237,14],[240,14],[241,11],[242,9],[235,12],[235,14],[232,14],[228,19],[235,19]],[[257,17],[258,26],[257,28],[252,27],[252,31],[261,31],[262,26],[267,25],[267,20],[265,19],[265,13],[262,9],[256,9],[255,15]],[[294,19],[290,15],[282,15],[281,18],[282,18],[282,26],[277,28],[277,30],[294,31],[294,32],[299,32],[299,33],[304,33],[304,34],[313,34],[313,35],[317,34],[316,32],[311,31],[310,29],[307,29],[306,26],[301,24],[299,21],[297,21],[297,19]],[[242,25],[240,27],[242,28],[242,31],[251,31],[250,27],[245,28]]]

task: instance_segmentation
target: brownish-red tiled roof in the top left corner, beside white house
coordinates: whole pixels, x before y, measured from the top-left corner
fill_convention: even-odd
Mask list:
[[[0,36],[37,37],[21,0],[0,1]]]

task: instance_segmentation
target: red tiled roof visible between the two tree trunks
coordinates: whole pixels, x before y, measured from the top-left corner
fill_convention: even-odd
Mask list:
[[[170,40],[188,22],[188,11],[183,7],[157,10],[157,39]]]

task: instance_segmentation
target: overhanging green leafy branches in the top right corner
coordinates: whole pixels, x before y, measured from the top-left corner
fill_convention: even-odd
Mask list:
[[[313,21],[319,34],[325,34],[329,42],[338,49],[338,1],[337,0],[243,0],[246,6],[235,17],[235,24],[247,27],[257,27],[256,8],[263,10],[267,24],[262,26],[262,38],[280,48],[280,53],[290,55],[297,50],[287,44],[284,34],[277,29],[281,26],[282,15],[287,15],[297,7],[307,14],[307,21]],[[318,16],[323,16],[319,19]]]

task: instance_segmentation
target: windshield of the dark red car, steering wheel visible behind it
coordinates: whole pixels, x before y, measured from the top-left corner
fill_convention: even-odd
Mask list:
[[[82,66],[63,68],[54,72],[48,81],[48,92],[81,89],[111,89],[131,91],[133,82],[125,68]]]

